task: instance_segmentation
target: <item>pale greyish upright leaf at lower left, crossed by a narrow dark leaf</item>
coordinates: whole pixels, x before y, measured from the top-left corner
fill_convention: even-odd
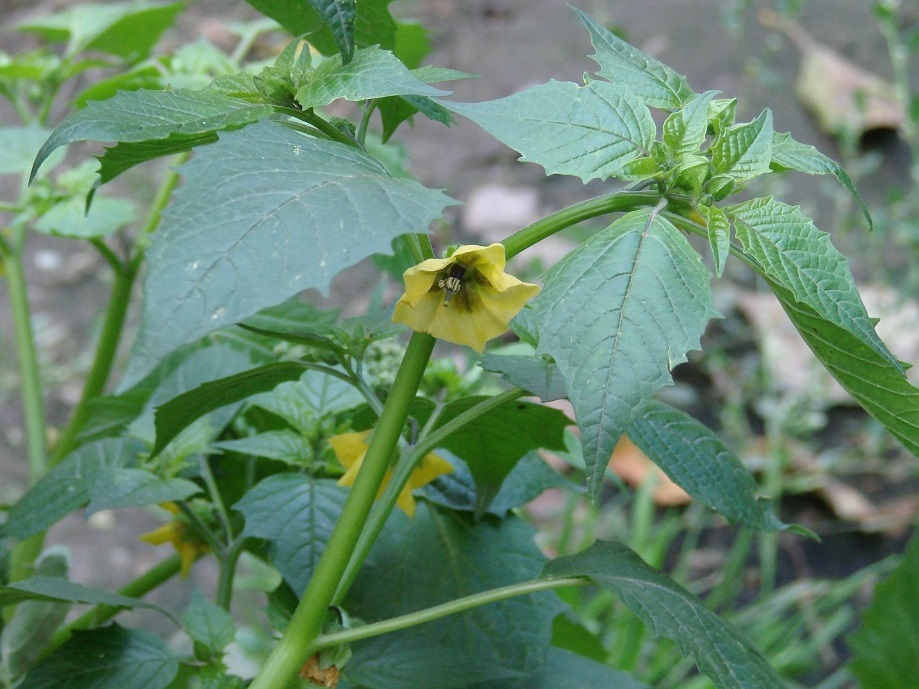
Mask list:
[[[35,561],[33,576],[58,577],[66,581],[69,569],[70,557],[66,549],[52,546]],[[15,679],[34,665],[67,617],[68,610],[70,604],[59,601],[20,601],[0,634],[0,672]]]

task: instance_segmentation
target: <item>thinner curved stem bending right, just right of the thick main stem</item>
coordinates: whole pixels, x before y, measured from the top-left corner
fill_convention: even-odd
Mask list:
[[[522,397],[525,394],[526,391],[522,388],[511,388],[499,395],[482,400],[456,418],[450,419],[450,421],[440,428],[422,437],[411,451],[402,457],[393,472],[392,478],[386,485],[383,495],[377,501],[376,505],[374,505],[370,513],[370,518],[367,520],[366,528],[361,532],[357,545],[354,548],[354,553],[351,555],[351,560],[348,562],[348,566],[345,568],[344,574],[342,574],[338,589],[335,591],[335,598],[333,598],[334,604],[338,604],[342,601],[348,593],[348,589],[351,588],[351,584],[353,584],[355,578],[357,578],[357,573],[364,564],[364,560],[367,559],[370,549],[373,547],[373,544],[376,543],[380,531],[383,530],[383,525],[386,524],[386,520],[389,518],[393,507],[395,507],[396,501],[399,499],[399,493],[402,492],[403,486],[408,483],[408,479],[412,475],[412,471],[415,469],[418,462],[420,462],[426,454],[440,445],[448,436],[455,433],[466,424],[500,407],[502,404]]]

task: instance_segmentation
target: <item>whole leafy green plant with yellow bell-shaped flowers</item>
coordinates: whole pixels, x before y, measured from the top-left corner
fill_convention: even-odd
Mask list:
[[[4,93],[24,119],[34,112],[43,124],[66,77],[98,65],[83,51],[121,60],[118,74],[79,96],[81,107],[47,138],[36,134],[44,140],[36,181],[4,208],[12,219],[0,253],[35,481],[4,523],[14,543],[0,589],[7,683],[242,686],[250,678],[229,670],[241,653],[230,613],[245,555],[280,575],[266,587],[262,620],[278,638],[251,678],[255,689],[293,685],[298,675],[334,686],[342,671],[371,687],[573,686],[586,677],[638,686],[580,653],[589,635],[572,642],[554,627],[565,606],[551,591],[593,586],[671,639],[716,686],[782,686],[733,625],[629,547],[596,541],[547,562],[517,508],[565,483],[535,452],[564,449],[572,421],[532,399],[565,397],[580,430],[570,454],[592,499],[627,433],[730,521],[807,535],[779,520],[712,431],[655,399],[718,315],[713,276],[691,235],[703,239],[717,276],[728,260],[756,271],[839,382],[919,451],[919,392],[877,337],[827,235],[772,197],[725,202],[761,175],[794,170],[835,176],[862,205],[846,173],[775,132],[768,110],[735,122],[733,100],[696,94],[580,12],[597,78],[473,104],[431,86],[464,75],[419,68],[423,33],[397,24],[386,0],[251,4],[309,44],[297,38],[269,64],[242,69],[246,41],[265,29],[257,24],[244,30],[244,48],[229,58],[206,50],[210,59],[198,62],[206,69],[183,81],[170,68],[187,60],[148,57],[177,6],[76,8],[33,25],[67,41],[63,56],[40,54],[54,69],[7,74]],[[145,40],[123,40],[135,35]],[[353,120],[324,114],[339,100],[358,104]],[[666,115],[660,137],[652,109]],[[500,244],[435,258],[428,227],[452,201],[412,179],[383,146],[410,117],[449,124],[455,114],[549,174],[630,184]],[[99,156],[97,184],[37,176],[60,147],[81,140],[116,142]],[[178,173],[166,173],[127,250],[113,239],[123,223],[90,223],[105,201],[96,186],[190,151]],[[27,230],[46,222],[46,199],[53,209],[84,197],[94,228],[84,234],[116,280],[83,398],[49,455],[23,246]],[[525,303],[536,289],[507,275],[505,258],[613,213],[622,215],[551,267]],[[65,217],[50,231],[81,222]],[[379,298],[347,319],[296,299],[388,253],[381,262],[405,271],[395,320],[415,329],[404,349],[395,338],[405,329]],[[105,395],[144,263],[139,333],[118,390]],[[508,325],[521,344],[482,354],[477,373],[429,366],[434,335],[481,350]],[[453,471],[435,479],[443,460]],[[356,477],[345,473],[358,465]],[[171,542],[178,555],[118,593],[70,582],[66,558],[40,555],[42,534],[74,510],[155,504],[171,514],[149,538]],[[393,511],[397,504],[404,513]],[[149,606],[141,596],[205,554],[218,565],[214,600],[196,595],[181,621],[164,611],[190,640],[187,653],[108,624],[121,609]],[[93,607],[64,622],[73,603]]]

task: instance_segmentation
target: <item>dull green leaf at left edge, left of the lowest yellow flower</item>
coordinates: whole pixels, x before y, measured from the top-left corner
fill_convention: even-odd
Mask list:
[[[23,540],[45,531],[89,502],[90,474],[132,466],[143,449],[130,438],[104,438],[67,455],[10,508],[6,533]]]

